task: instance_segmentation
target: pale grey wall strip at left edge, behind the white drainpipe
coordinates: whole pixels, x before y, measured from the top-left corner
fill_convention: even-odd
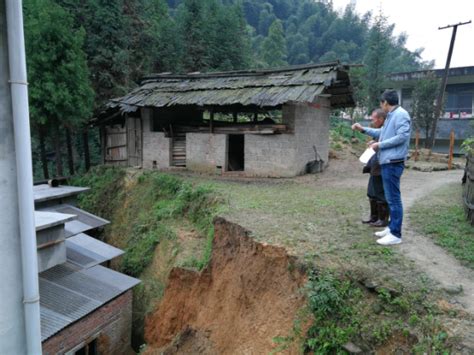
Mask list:
[[[0,0],[0,354],[25,354],[25,312],[5,2]]]

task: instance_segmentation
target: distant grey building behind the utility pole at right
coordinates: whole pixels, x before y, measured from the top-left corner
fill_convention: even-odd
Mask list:
[[[388,76],[389,86],[396,89],[401,98],[401,105],[411,112],[413,88],[416,82],[429,73],[442,77],[444,69],[421,70],[414,72],[393,73]],[[448,152],[451,129],[456,137],[455,151],[466,138],[474,136],[474,66],[451,68],[445,92],[445,107],[438,122],[436,146],[434,150]],[[413,133],[414,134],[414,133]],[[424,134],[421,132],[422,142]]]

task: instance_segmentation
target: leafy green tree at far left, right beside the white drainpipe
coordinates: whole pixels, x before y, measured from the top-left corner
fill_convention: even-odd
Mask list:
[[[40,141],[46,128],[52,131],[58,176],[63,174],[61,132],[90,118],[94,98],[82,50],[84,36],[84,30],[74,29],[73,18],[53,1],[25,2],[32,126],[41,132]]]

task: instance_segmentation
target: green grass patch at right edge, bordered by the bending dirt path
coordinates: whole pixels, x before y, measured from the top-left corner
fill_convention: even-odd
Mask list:
[[[461,184],[439,189],[415,204],[411,222],[419,233],[432,238],[465,266],[474,269],[474,227],[466,220],[461,196]]]

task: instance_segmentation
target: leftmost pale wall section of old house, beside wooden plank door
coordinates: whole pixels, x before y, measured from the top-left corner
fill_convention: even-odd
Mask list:
[[[167,169],[171,164],[171,138],[166,138],[163,132],[151,130],[152,110],[141,109],[143,134],[143,168],[151,169],[156,162],[156,168]]]

